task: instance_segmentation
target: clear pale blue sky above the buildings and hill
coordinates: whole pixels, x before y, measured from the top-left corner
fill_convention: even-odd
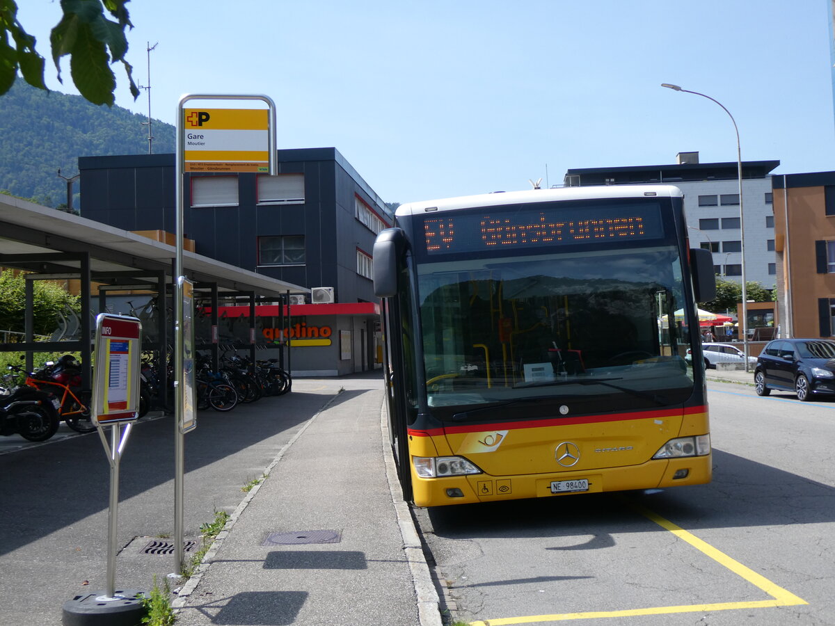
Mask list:
[[[58,0],[18,0],[48,58]],[[151,114],[264,93],[279,148],[336,147],[388,202],[562,184],[568,168],[779,159],[835,169],[829,0],[136,0],[129,61]],[[134,102],[114,66],[117,103]],[[221,103],[217,108],[225,108]]]

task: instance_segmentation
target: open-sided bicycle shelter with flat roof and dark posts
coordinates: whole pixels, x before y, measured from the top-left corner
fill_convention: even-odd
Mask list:
[[[0,352],[23,351],[26,369],[33,369],[34,352],[78,351],[83,363],[83,385],[91,381],[94,336],[93,290],[97,291],[98,310],[108,310],[108,298],[118,293],[150,292],[156,300],[156,336],[143,344],[165,355],[172,333],[167,299],[175,280],[175,246],[119,230],[78,215],[49,209],[13,196],[0,195],[0,267],[29,272],[26,278],[26,312],[23,342],[0,343]],[[248,304],[251,308],[249,341],[235,349],[249,349],[255,361],[256,302],[286,304],[289,295],[308,290],[269,276],[228,265],[209,257],[184,251],[183,270],[195,285],[195,301],[210,310],[210,336],[195,336],[195,345],[210,350],[213,366],[218,366],[217,336],[219,303]],[[50,341],[35,341],[33,332],[33,280],[78,280],[81,316],[66,324]],[[281,310],[284,306],[279,307]],[[151,310],[149,309],[150,313]],[[140,315],[140,320],[142,316]],[[77,328],[75,326],[78,326]],[[284,345],[278,347],[283,365]],[[289,353],[288,353],[289,354]],[[289,367],[289,366],[288,366]],[[164,380],[165,368],[160,374]]]

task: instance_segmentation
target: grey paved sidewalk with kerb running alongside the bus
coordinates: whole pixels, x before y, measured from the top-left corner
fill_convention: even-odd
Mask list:
[[[440,626],[382,385],[346,390],[264,469],[180,589],[178,624]]]

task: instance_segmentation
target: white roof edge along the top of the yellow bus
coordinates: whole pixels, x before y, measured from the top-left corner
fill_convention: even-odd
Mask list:
[[[427,210],[447,211],[476,206],[498,206],[500,204],[604,198],[643,198],[646,196],[681,198],[683,194],[681,189],[671,184],[618,184],[593,187],[561,187],[559,189],[529,189],[528,191],[496,191],[492,194],[463,195],[458,198],[408,202],[398,206],[395,215],[419,215]]]

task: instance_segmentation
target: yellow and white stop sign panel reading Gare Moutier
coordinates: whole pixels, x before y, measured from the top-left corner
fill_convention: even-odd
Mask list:
[[[185,109],[183,161],[186,172],[269,171],[269,111]]]

